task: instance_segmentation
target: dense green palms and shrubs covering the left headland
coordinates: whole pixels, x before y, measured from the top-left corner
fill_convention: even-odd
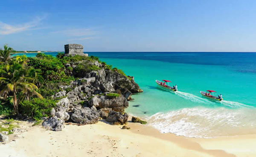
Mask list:
[[[38,121],[41,117],[49,116],[52,107],[55,107],[58,99],[52,95],[62,91],[60,85],[69,85],[76,77],[99,68],[117,71],[125,76],[122,70],[112,68],[112,65],[94,56],[64,56],[59,53],[53,57],[38,53],[36,57],[26,57],[12,56],[13,52],[8,45],[0,50],[0,115],[31,116]],[[79,62],[74,69],[67,66],[78,61],[83,62]],[[100,67],[90,64],[96,61]],[[67,92],[71,90],[66,89]]]

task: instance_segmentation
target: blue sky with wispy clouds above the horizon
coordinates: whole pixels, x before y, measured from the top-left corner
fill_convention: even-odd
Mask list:
[[[4,0],[0,47],[256,51],[255,0]]]

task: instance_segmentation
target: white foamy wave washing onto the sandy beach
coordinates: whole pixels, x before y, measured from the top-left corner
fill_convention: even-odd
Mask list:
[[[148,124],[162,133],[186,137],[219,137],[256,134],[256,109],[184,108],[167,113],[158,112]]]

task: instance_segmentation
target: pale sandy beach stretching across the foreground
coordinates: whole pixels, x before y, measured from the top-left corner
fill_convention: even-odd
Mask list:
[[[103,120],[66,125],[61,132],[31,126],[0,144],[0,157],[256,157],[256,135],[202,139],[161,134],[139,123],[127,126]]]

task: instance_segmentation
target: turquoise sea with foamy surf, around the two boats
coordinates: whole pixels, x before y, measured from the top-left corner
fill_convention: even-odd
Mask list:
[[[126,112],[147,118],[163,133],[206,138],[256,134],[256,53],[87,53],[134,76],[144,92],[132,95]],[[160,89],[156,79],[172,81],[178,92]],[[222,94],[224,101],[203,98],[200,91],[206,90]]]

